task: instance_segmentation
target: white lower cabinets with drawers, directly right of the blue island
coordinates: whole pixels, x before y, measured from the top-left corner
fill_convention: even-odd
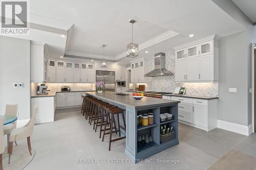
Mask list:
[[[163,95],[163,99],[180,101],[178,105],[180,123],[207,132],[217,128],[217,99],[202,100],[165,95]]]

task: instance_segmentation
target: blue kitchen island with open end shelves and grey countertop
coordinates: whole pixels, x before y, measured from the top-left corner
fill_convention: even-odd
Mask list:
[[[125,110],[126,148],[125,154],[136,162],[140,159],[146,159],[161,151],[179,144],[178,139],[178,103],[179,101],[165,100],[144,97],[141,100],[135,100],[132,95],[115,95],[113,92],[86,92],[104,102],[108,102]],[[160,114],[172,113],[173,119],[160,122]],[[137,115],[153,113],[154,124],[148,126],[137,125]],[[120,120],[122,122],[122,120]],[[173,127],[174,138],[172,140],[160,141],[160,126],[166,125]],[[151,145],[138,144],[138,137],[142,135],[151,135],[153,142]]]

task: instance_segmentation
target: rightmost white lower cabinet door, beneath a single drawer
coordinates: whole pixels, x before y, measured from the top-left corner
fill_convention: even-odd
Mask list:
[[[198,126],[206,127],[207,106],[193,105],[193,123]]]

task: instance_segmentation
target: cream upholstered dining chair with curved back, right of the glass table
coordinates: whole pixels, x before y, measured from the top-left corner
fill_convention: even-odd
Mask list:
[[[12,130],[10,134],[10,139],[9,139],[9,161],[8,161],[9,164],[10,164],[10,159],[12,154],[13,141],[15,140],[21,140],[21,139],[27,138],[29,154],[32,155],[30,136],[32,135],[34,130],[36,113],[37,113],[37,107],[34,106],[32,109],[32,116],[29,122],[22,128],[17,128]]]

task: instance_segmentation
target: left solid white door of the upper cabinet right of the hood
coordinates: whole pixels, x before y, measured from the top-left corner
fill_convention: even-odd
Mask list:
[[[175,62],[175,81],[186,81],[186,60],[179,60]]]

